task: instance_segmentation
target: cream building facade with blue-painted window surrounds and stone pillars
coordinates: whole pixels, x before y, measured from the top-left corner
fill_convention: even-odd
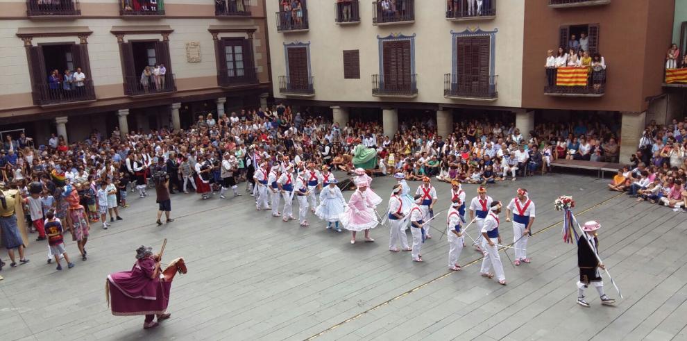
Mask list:
[[[266,0],[273,93],[339,124],[381,114],[390,137],[399,109],[436,112],[443,136],[457,110],[520,113],[525,4],[468,2]]]

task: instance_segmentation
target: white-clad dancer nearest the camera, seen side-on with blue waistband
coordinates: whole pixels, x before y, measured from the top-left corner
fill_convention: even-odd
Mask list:
[[[498,214],[501,213],[500,201],[491,203],[491,212],[484,218],[484,225],[482,226],[482,236],[486,240],[484,246],[485,255],[482,259],[482,269],[480,273],[484,277],[493,278],[494,274],[489,272],[493,267],[496,273],[496,279],[500,285],[506,285],[506,276],[503,273],[503,265],[501,258],[498,256],[498,246],[501,244],[501,235],[498,233]]]

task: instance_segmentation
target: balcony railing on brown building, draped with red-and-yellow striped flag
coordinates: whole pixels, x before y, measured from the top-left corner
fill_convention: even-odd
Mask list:
[[[576,70],[577,75],[559,76],[559,71]],[[588,67],[546,68],[544,94],[558,97],[602,97],[606,92],[607,67],[593,70]]]

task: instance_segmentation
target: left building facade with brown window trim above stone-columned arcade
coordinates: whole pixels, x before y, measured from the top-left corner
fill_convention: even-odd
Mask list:
[[[0,11],[0,131],[36,144],[186,128],[265,106],[271,91],[262,0],[3,1]]]

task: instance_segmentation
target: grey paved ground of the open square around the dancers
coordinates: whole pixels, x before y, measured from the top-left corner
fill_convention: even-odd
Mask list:
[[[388,251],[387,227],[372,231],[377,242],[351,245],[349,233],[325,230],[316,217],[301,228],[257,212],[246,194],[207,201],[174,194],[176,222],[158,227],[154,192],[131,195],[123,222],[107,231],[92,226],[86,262],[69,241],[76,267],[57,272],[46,265],[46,244],[33,242],[31,263],[0,272],[0,340],[687,339],[687,215],[636,203],[605,183],[551,174],[489,186],[506,202],[516,188],[527,188],[537,205],[528,247],[533,263],[511,267],[501,252],[505,287],[480,277],[482,255],[469,247],[460,258],[464,269],[448,271],[445,213],[423,245],[425,262],[414,263],[407,252]],[[392,184],[375,178],[373,189],[386,198]],[[450,187],[434,185],[438,210],[448,208]],[[468,200],[476,193],[475,185],[464,189]],[[562,214],[552,205],[561,194],[575,197],[580,221],[603,225],[601,256],[625,297],[605,281],[616,306],[601,306],[593,288],[591,308],[575,303],[577,249],[563,244]],[[510,244],[504,220],[501,233]],[[105,276],[130,269],[140,244],[158,249],[164,238],[165,258],[183,256],[189,273],[172,285],[171,319],[144,331],[143,317],[110,314]]]

